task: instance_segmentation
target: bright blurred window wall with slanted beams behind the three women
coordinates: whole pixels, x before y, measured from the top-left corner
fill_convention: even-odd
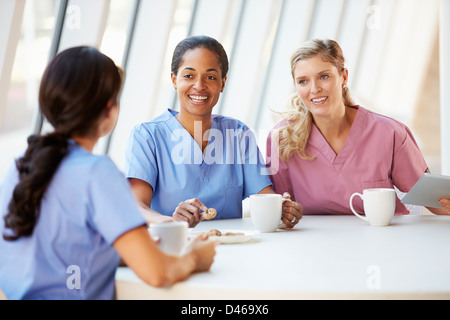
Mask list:
[[[294,92],[289,59],[304,41],[331,38],[344,51],[349,88],[362,106],[413,131],[441,173],[439,8],[446,0],[1,0],[0,180],[26,137],[48,130],[38,87],[49,59],[93,45],[126,70],[115,131],[96,153],[122,168],[134,125],[177,109],[170,81],[175,45],[205,34],[225,47],[230,72],[214,112],[244,121],[264,152]]]

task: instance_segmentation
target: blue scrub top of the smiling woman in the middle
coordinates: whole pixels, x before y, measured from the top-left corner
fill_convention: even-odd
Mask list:
[[[217,210],[215,219],[242,217],[242,200],[271,185],[253,133],[238,120],[212,115],[203,154],[177,114],[169,109],[133,129],[125,175],[152,186],[151,208],[161,214],[171,216],[180,202],[197,198]]]

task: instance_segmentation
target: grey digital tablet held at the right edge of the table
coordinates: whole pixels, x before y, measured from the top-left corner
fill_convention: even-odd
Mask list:
[[[431,208],[442,208],[439,200],[450,199],[450,177],[424,173],[419,181],[403,197],[405,204],[414,204]]]

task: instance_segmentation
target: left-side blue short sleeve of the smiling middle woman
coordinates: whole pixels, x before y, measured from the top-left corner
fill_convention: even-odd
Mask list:
[[[156,145],[143,125],[136,126],[125,152],[125,175],[149,183],[155,189],[158,177]]]

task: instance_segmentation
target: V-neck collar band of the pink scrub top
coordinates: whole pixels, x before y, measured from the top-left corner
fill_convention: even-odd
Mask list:
[[[331,148],[328,144],[327,140],[324,138],[316,125],[314,123],[312,125],[308,143],[315,149],[319,150],[329,164],[334,166],[338,171],[340,171],[349,155],[353,153],[356,142],[361,136],[364,119],[367,116],[367,111],[364,108],[361,108],[360,106],[355,106],[354,108],[357,108],[358,110],[339,154],[334,152],[333,148]]]

